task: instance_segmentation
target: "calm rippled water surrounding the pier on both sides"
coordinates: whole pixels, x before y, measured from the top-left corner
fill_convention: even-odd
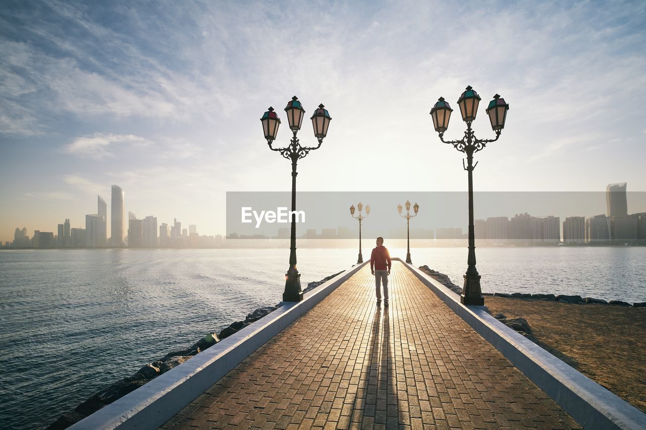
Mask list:
[[[45,427],[143,363],[280,302],[288,254],[1,251],[1,427]],[[479,248],[477,256],[485,292],[646,301],[646,248]],[[353,249],[299,249],[303,287],[356,258]],[[465,249],[413,249],[412,258],[461,285]]]

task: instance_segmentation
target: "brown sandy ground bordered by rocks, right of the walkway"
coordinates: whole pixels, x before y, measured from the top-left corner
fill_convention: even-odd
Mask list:
[[[550,353],[646,412],[646,308],[491,296],[485,305],[522,316]]]

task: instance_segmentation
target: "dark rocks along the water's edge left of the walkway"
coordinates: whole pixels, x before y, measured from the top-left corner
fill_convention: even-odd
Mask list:
[[[318,285],[331,280],[342,272],[343,271],[332,274],[317,282],[310,282],[309,284],[307,284],[307,287],[303,290],[303,292],[307,292],[318,287]],[[74,408],[74,410],[59,416],[59,418],[48,427],[48,430],[65,429],[70,425],[82,420],[86,416],[91,415],[102,407],[109,405],[115,400],[130,393],[131,391],[138,389],[139,387],[141,387],[141,385],[147,384],[147,382],[150,382],[157,376],[160,376],[160,374],[166,373],[176,365],[180,365],[186,360],[190,360],[191,358],[196,356],[196,354],[199,354],[205,349],[208,349],[209,347],[215,345],[216,343],[220,342],[220,340],[223,340],[231,336],[231,334],[244,329],[244,327],[247,327],[247,325],[260,320],[260,318],[278,309],[278,307],[282,306],[283,303],[284,302],[280,302],[276,306],[259,307],[255,311],[249,312],[249,314],[247,314],[247,318],[242,321],[236,321],[229,324],[227,327],[222,329],[220,333],[211,332],[204,336],[202,339],[198,340],[198,342],[193,343],[193,345],[191,345],[190,347],[172,351],[171,353],[166,354],[165,356],[159,358],[158,360],[155,360],[152,363],[143,365],[141,369],[139,369],[136,373],[132,374],[131,376],[127,376],[126,378],[123,378],[118,382],[115,382],[106,389],[103,389],[94,394],[94,396],[90,397],[88,400],[85,400],[85,402],[78,405],[76,408]]]

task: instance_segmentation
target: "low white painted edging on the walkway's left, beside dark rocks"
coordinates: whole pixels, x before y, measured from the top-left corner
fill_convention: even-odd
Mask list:
[[[285,303],[191,360],[161,374],[68,428],[79,430],[159,427],[256,349],[312,309],[366,263],[356,265],[306,292],[302,302]]]

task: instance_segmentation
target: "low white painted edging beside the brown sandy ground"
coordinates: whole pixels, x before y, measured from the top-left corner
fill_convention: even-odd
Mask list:
[[[639,409],[496,320],[485,306],[463,305],[458,294],[416,267],[404,265],[583,428],[646,429],[646,414]]]

